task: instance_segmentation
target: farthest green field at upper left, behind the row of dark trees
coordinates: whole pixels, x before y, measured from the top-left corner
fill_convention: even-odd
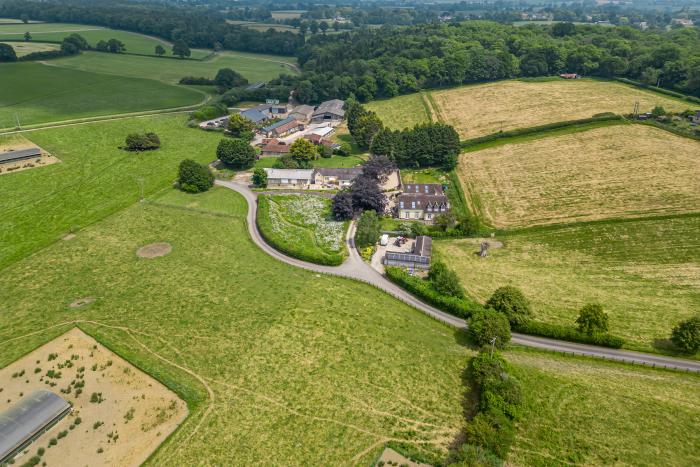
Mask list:
[[[76,33],[83,36],[92,47],[95,47],[101,40],[118,39],[124,43],[128,53],[155,55],[155,47],[162,45],[167,51],[166,55],[172,54],[170,43],[157,37],[84,24],[35,23],[4,25],[0,28],[0,40],[24,40],[24,33],[27,31],[32,35],[32,40],[37,42],[60,42],[66,36]],[[192,58],[202,58],[209,53],[206,50],[193,49]]]

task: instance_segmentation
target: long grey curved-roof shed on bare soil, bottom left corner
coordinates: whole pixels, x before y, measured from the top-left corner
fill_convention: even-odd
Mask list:
[[[22,452],[71,410],[68,402],[42,389],[0,413],[0,465]]]

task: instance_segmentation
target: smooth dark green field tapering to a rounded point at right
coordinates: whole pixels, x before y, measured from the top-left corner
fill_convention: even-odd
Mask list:
[[[105,54],[106,55],[106,54]],[[154,59],[155,60],[155,59]],[[52,62],[54,63],[54,62]],[[195,105],[204,96],[150,79],[0,64],[0,128]]]

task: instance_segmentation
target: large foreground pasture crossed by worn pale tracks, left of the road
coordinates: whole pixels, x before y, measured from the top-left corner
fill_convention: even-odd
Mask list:
[[[387,442],[444,458],[470,354],[455,331],[268,257],[219,190],[137,203],[5,269],[0,367],[79,324],[188,402],[154,465],[369,465]],[[172,252],[139,258],[152,242]]]

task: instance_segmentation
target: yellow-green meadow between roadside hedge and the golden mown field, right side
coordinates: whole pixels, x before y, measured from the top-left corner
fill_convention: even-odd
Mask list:
[[[599,303],[628,347],[663,350],[671,329],[700,309],[700,215],[580,224],[496,237],[503,248],[480,258],[479,239],[439,241],[470,296],[484,302],[503,285],[520,288],[534,318],[574,326]]]

